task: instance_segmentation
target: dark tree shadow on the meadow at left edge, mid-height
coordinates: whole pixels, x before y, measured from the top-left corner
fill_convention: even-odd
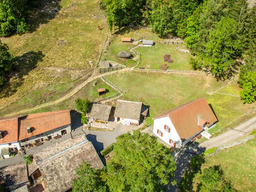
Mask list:
[[[1,87],[0,98],[13,95],[17,88],[22,85],[23,77],[36,68],[37,63],[42,61],[43,57],[42,51],[29,51],[21,56],[14,57],[12,72],[6,77],[6,82]],[[13,79],[12,82],[10,81],[11,78]]]

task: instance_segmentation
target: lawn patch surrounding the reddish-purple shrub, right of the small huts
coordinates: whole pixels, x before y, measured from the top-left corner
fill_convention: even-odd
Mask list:
[[[139,67],[160,70],[160,66],[166,63],[169,70],[193,71],[189,65],[189,53],[180,52],[176,45],[156,43],[152,47],[138,47],[136,51],[141,53],[141,64]],[[173,63],[165,62],[164,55],[170,54]]]

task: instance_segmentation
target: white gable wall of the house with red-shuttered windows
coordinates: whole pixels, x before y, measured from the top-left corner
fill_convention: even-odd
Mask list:
[[[168,132],[164,129],[165,125],[167,125],[171,128],[170,132]],[[163,132],[163,137],[161,137],[159,134],[157,134],[157,129],[160,130],[161,132]],[[161,117],[159,119],[154,120],[153,132],[157,137],[159,137],[161,140],[163,140],[164,142],[166,142],[169,145],[170,145],[170,142],[169,142],[170,139],[173,140],[174,142],[180,141],[180,143],[181,143],[180,137],[179,137],[177,131],[175,130],[173,122],[171,122],[171,120],[168,116]]]

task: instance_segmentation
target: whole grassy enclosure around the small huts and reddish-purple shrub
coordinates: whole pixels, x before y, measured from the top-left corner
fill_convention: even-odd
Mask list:
[[[175,45],[166,45],[160,43],[163,39],[157,37],[157,35],[151,32],[150,29],[137,29],[141,35],[150,36],[152,38],[147,38],[149,40],[158,41],[152,47],[138,47],[136,51],[141,53],[141,63],[139,67],[145,67],[150,69],[158,69],[160,70],[160,66],[164,63],[168,64],[170,70],[183,70],[183,71],[193,71],[191,65],[189,65],[189,58],[191,56],[190,53],[180,52],[176,49],[177,44]],[[124,43],[121,41],[122,37],[131,37],[134,38],[134,41],[142,40],[142,37],[137,35],[135,32],[130,31],[129,28],[123,28],[118,35],[114,35],[112,37],[112,41],[107,50],[104,51],[101,59],[102,61],[106,58],[106,60],[112,60],[127,67],[132,67],[135,65],[135,61],[133,60],[120,60],[117,57],[117,53],[120,51],[129,52],[129,48],[136,46],[134,43]],[[139,43],[141,44],[141,43]],[[179,47],[182,47],[179,45]],[[171,59],[174,61],[173,63],[164,62],[163,56],[165,54],[170,54]]]

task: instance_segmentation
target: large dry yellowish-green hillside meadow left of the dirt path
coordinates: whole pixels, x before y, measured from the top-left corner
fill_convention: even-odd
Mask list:
[[[13,77],[1,87],[1,115],[61,97],[81,82],[88,62],[95,65],[99,58],[108,31],[99,0],[46,2],[60,3],[60,11],[51,19],[40,12],[31,32],[2,38],[16,63]]]

